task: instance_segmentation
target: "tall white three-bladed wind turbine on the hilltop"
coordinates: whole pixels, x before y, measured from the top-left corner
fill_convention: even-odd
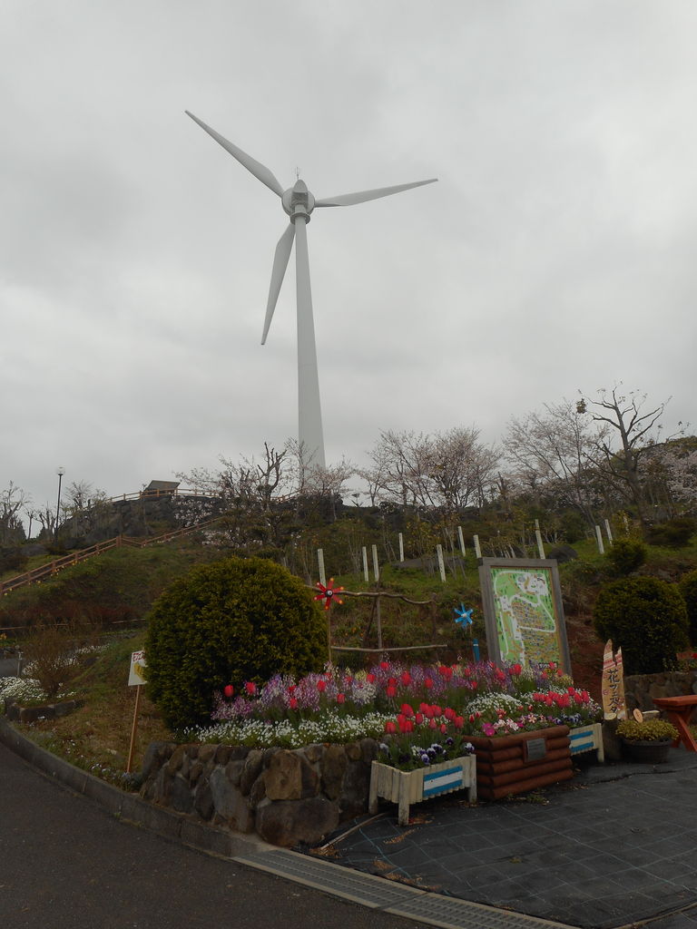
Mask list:
[[[194,123],[198,123],[209,136],[216,139],[222,147],[230,152],[233,158],[251,172],[262,184],[266,184],[281,198],[283,210],[290,217],[290,223],[276,245],[276,254],[273,258],[271,282],[269,287],[269,300],[266,307],[264,331],[261,344],[264,345],[269,334],[269,327],[273,319],[281,284],[288,267],[293,240],[296,240],[296,303],[297,303],[297,399],[298,399],[298,440],[300,450],[304,451],[306,464],[313,464],[321,468],[324,462],[324,439],[322,436],[322,407],[320,405],[320,381],[317,374],[317,351],[315,348],[315,328],[312,318],[312,293],[309,285],[309,256],[308,237],[306,226],[309,217],[316,206],[353,206],[355,203],[365,203],[368,200],[377,200],[388,197],[402,190],[411,190],[424,184],[432,184],[437,177],[429,180],[417,180],[412,184],[398,184],[396,187],[383,187],[376,190],[360,190],[357,193],[344,193],[338,197],[325,197],[315,200],[309,192],[304,181],[298,179],[293,187],[283,190],[283,187],[264,164],[260,164],[242,149],[238,149],[227,138],[220,136],[215,129],[211,129],[197,116],[188,110]]]

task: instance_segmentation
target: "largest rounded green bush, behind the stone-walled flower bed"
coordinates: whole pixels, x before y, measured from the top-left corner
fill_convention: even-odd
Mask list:
[[[305,584],[262,558],[226,558],[171,584],[148,616],[151,698],[168,726],[210,719],[214,691],[320,671],[326,623]]]

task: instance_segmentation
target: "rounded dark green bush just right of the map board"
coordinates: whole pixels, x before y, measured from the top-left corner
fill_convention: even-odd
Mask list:
[[[658,578],[621,578],[601,588],[593,609],[596,631],[622,648],[625,674],[673,667],[687,648],[688,613],[677,586]]]

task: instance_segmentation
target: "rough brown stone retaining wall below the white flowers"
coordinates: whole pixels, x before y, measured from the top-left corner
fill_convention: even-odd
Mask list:
[[[289,751],[152,742],[141,796],[289,847],[317,844],[367,811],[374,739]]]

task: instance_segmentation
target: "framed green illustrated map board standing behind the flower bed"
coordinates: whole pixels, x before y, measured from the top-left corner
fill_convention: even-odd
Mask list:
[[[553,558],[480,558],[489,657],[497,664],[547,664],[571,674]]]

